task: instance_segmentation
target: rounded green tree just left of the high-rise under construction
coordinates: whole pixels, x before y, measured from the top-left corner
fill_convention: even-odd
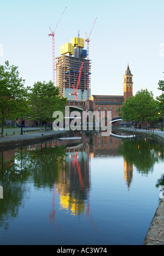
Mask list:
[[[40,130],[43,122],[52,121],[52,114],[56,110],[65,110],[66,103],[67,99],[61,98],[59,89],[51,81],[37,82],[30,89],[30,117],[32,120],[40,121]]]

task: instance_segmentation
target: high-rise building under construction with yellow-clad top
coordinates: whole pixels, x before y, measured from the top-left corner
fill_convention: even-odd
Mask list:
[[[68,100],[86,101],[91,96],[91,61],[84,49],[84,39],[75,37],[71,43],[60,47],[61,56],[56,58],[57,86]]]

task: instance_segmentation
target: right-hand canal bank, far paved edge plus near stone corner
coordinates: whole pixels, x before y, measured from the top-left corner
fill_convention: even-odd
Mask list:
[[[132,128],[116,128],[118,132],[126,132],[128,134],[138,135],[155,139],[164,146],[164,131],[147,132],[146,130],[138,130]],[[161,199],[159,207],[150,224],[150,228],[144,239],[144,246],[148,245],[164,245],[164,199]]]

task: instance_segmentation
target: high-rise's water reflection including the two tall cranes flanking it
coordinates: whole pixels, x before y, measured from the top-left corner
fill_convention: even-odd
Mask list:
[[[65,160],[57,158],[58,172],[54,183],[52,212],[49,215],[49,220],[51,223],[55,222],[57,231],[62,235],[61,226],[55,219],[55,196],[58,194],[60,195],[60,210],[66,210],[66,213],[73,215],[86,213],[86,217],[97,231],[90,214],[90,154],[86,154],[84,149],[80,151],[81,148],[68,147],[66,150],[68,149],[69,154],[65,156]]]

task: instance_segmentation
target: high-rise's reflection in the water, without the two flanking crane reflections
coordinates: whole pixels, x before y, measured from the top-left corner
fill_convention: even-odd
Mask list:
[[[68,150],[68,148],[67,148]],[[73,150],[73,149],[71,149]],[[58,174],[56,193],[60,194],[60,207],[79,215],[85,211],[87,184],[87,158],[85,152],[69,151],[66,156],[65,168]]]

